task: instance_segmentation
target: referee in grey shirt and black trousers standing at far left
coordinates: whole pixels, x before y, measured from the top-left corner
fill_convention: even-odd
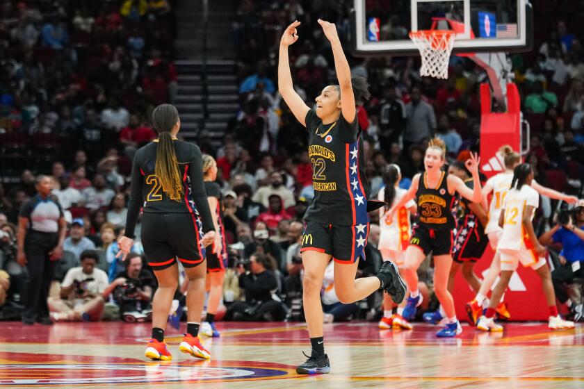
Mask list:
[[[51,199],[51,178],[38,176],[38,194],[18,216],[17,261],[29,270],[22,323],[51,325],[47,297],[56,260],[63,255],[66,223],[63,208]]]

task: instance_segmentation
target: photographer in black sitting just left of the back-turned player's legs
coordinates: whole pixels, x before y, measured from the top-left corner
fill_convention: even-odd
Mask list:
[[[131,253],[126,258],[126,270],[117,274],[104,290],[104,298],[113,293],[115,303],[120,306],[120,316],[127,323],[145,322],[152,319],[152,292],[154,275],[143,269],[140,254]]]

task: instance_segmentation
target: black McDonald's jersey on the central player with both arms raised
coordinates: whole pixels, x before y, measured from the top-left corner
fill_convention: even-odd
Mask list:
[[[336,122],[323,124],[316,112],[309,110],[305,122],[314,187],[305,219],[323,224],[367,224],[369,183],[357,115],[351,124],[343,115]]]

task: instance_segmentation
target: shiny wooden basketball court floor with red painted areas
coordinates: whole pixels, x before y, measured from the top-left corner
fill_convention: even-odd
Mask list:
[[[183,324],[185,325],[185,324]],[[0,387],[11,388],[583,388],[584,329],[507,324],[504,334],[464,326],[457,338],[436,328],[379,330],[377,324],[325,324],[332,373],[299,376],[309,353],[304,324],[218,323],[206,339],[212,361],[178,351],[173,361],[143,356],[149,324],[0,324]],[[184,329],[183,329],[184,330]]]

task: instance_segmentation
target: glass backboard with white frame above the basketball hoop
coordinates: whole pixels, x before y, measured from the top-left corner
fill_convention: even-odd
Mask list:
[[[409,31],[451,29],[454,53],[528,51],[533,10],[528,0],[354,0],[357,55],[414,55]]]

